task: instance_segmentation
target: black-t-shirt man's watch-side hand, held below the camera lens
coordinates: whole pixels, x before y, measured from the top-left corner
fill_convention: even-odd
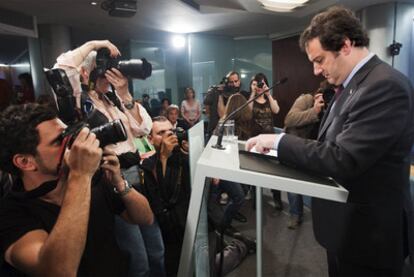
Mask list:
[[[103,151],[101,168],[104,169],[109,182],[114,185],[118,191],[124,190],[125,183],[122,178],[119,159],[114,151],[109,149]]]

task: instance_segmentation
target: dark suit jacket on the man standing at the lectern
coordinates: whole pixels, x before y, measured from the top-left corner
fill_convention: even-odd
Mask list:
[[[335,105],[318,141],[285,135],[279,159],[332,176],[349,191],[347,203],[313,199],[314,233],[322,246],[350,262],[401,266],[406,247],[414,249],[411,83],[374,56]]]

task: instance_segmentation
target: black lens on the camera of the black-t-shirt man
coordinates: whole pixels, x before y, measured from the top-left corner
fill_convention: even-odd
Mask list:
[[[101,148],[127,140],[124,124],[119,119],[93,128],[91,132],[99,139]]]

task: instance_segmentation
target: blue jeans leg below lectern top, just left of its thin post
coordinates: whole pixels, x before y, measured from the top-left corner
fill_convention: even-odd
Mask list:
[[[219,190],[226,192],[229,196],[230,202],[223,215],[223,226],[228,227],[233,220],[233,217],[240,210],[244,203],[244,191],[239,183],[220,180]]]

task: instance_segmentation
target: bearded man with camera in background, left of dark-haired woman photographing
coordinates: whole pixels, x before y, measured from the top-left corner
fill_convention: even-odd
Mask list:
[[[230,71],[219,86],[209,89],[203,103],[208,115],[208,136],[213,134],[219,119],[224,116],[228,98],[239,91],[240,75],[236,71]]]

